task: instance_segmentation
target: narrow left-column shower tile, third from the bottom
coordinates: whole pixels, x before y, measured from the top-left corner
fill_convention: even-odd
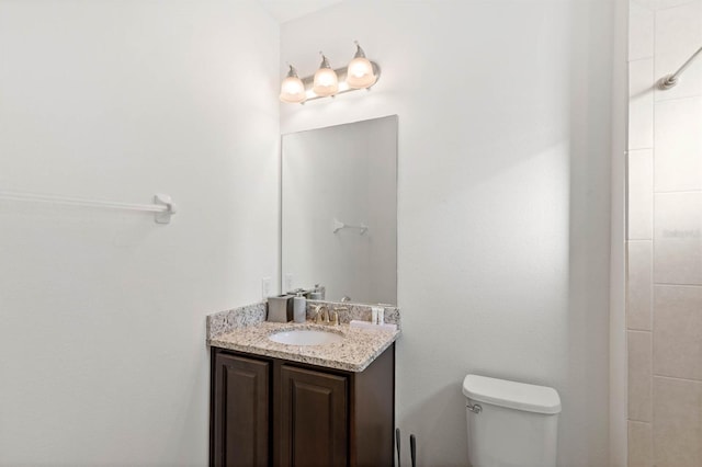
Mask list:
[[[627,243],[626,328],[650,330],[653,299],[653,241]]]

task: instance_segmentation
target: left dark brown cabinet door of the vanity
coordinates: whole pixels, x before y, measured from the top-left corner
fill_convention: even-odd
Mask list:
[[[215,354],[211,465],[269,465],[269,368],[268,362]]]

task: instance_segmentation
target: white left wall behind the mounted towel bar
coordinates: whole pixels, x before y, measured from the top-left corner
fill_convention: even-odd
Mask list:
[[[278,276],[279,27],[246,1],[0,0],[0,464],[205,465],[205,315]]]

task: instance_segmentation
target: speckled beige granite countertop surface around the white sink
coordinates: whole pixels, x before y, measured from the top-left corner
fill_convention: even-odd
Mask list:
[[[295,329],[316,329],[342,334],[346,339],[321,345],[288,345],[273,342],[270,334]],[[399,330],[351,328],[349,324],[324,326],[306,323],[269,322],[234,329],[207,340],[212,346],[239,352],[284,358],[293,362],[319,365],[347,372],[364,371],[399,337]]]

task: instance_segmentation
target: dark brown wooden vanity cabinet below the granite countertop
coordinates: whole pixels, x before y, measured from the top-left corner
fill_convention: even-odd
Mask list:
[[[392,466],[395,344],[361,373],[212,350],[212,466]]]

